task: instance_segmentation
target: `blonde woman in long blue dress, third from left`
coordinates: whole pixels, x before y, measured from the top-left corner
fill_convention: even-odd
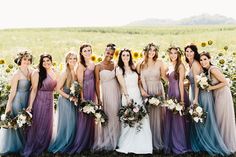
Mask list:
[[[75,65],[77,63],[77,55],[74,52],[69,52],[66,55],[66,69],[61,74],[60,80],[57,83],[57,91],[60,94],[58,98],[58,124],[55,140],[48,148],[52,153],[66,152],[69,146],[73,143],[76,132],[76,108],[74,101],[76,98],[71,98],[70,87],[73,81],[76,80]],[[72,99],[73,101],[70,101]]]

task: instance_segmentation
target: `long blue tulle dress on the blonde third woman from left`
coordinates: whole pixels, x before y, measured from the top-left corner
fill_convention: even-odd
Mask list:
[[[64,87],[67,94],[70,89]],[[76,108],[73,102],[59,96],[58,98],[58,124],[55,140],[50,144],[48,151],[52,153],[64,153],[72,144],[76,132]]]

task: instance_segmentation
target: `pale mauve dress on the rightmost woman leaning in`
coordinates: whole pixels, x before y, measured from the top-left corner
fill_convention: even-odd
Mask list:
[[[211,66],[208,74],[215,66]],[[217,85],[219,81],[214,77],[210,76],[211,84]],[[226,147],[231,153],[236,152],[236,124],[234,114],[234,103],[232,94],[229,86],[213,90],[215,99],[215,114],[216,122],[219,127],[220,134],[224,140]]]

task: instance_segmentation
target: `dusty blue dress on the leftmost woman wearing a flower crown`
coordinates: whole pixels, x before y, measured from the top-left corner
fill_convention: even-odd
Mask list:
[[[28,105],[31,83],[29,80],[19,80],[15,98],[12,101],[12,114],[16,116],[19,111]],[[0,155],[9,153],[22,153],[25,136],[21,129],[0,129]]]

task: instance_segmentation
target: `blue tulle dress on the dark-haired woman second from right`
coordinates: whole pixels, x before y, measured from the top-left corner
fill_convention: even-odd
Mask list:
[[[191,100],[194,98],[194,77],[189,73],[191,84]],[[229,155],[224,141],[219,133],[214,112],[214,99],[212,91],[199,89],[199,105],[207,112],[204,123],[192,123],[190,130],[190,140],[194,152],[208,152],[210,155]]]

